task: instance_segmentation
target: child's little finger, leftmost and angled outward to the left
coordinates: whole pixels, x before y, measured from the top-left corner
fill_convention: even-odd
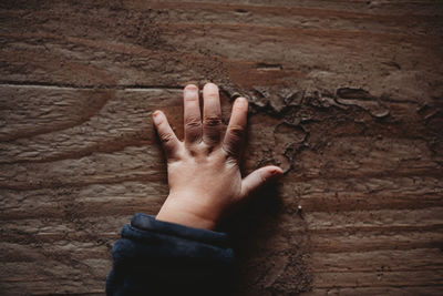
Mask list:
[[[158,137],[162,141],[162,146],[165,151],[166,157],[168,160],[176,159],[179,149],[179,141],[173,129],[171,129],[166,115],[163,114],[162,111],[155,111],[153,113],[153,121],[155,129],[157,130]]]

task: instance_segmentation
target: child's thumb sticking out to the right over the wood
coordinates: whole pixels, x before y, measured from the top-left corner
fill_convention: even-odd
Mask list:
[[[265,166],[254,171],[241,181],[240,196],[243,197],[248,196],[255,190],[265,185],[269,181],[275,180],[278,176],[281,176],[282,174],[284,171],[275,165]]]

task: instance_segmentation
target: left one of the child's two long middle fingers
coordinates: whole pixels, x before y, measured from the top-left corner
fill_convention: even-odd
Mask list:
[[[198,88],[194,84],[186,85],[183,91],[185,143],[198,143],[202,140],[202,115],[198,102]]]

